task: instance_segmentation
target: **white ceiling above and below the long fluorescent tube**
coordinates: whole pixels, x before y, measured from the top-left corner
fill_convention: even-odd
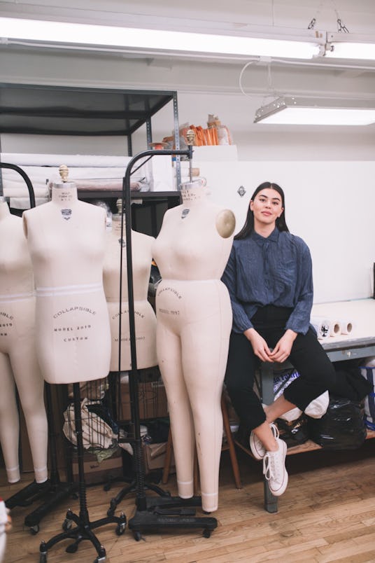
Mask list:
[[[285,32],[285,28],[305,31],[315,18],[313,29],[317,31],[337,32],[340,20],[350,33],[375,36],[374,0],[64,0],[64,7],[61,0],[0,0],[0,16],[201,32],[267,29],[271,34]],[[38,50],[45,51],[0,44],[0,56],[2,52],[18,53],[23,64],[27,57],[31,61],[31,51]],[[82,50],[63,54],[71,57],[72,73],[73,65],[76,69],[71,83],[77,83],[83,69],[90,65],[94,68],[102,61],[105,66],[101,66],[99,85],[105,80],[109,83],[111,69],[112,77],[120,68],[129,88],[224,94],[239,94],[242,89],[242,93],[258,100],[277,95],[375,98],[375,63],[369,61],[318,57],[311,61],[250,62]],[[48,56],[50,60],[45,61],[51,62],[52,55]]]

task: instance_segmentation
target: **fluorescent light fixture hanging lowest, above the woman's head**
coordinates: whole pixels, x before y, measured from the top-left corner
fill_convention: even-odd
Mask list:
[[[255,112],[254,123],[276,125],[369,125],[375,123],[374,102],[280,97]]]

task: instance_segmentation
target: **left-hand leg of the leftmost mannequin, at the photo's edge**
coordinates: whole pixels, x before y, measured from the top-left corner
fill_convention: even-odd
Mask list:
[[[20,480],[18,444],[20,421],[15,401],[15,382],[7,354],[0,352],[0,443],[6,466],[8,482]]]

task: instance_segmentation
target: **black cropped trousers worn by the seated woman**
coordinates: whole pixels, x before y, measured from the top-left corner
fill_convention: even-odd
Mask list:
[[[266,340],[269,348],[274,348],[285,333],[290,312],[288,308],[267,305],[257,310],[251,319],[255,330]],[[299,377],[285,389],[287,401],[304,410],[324,391],[337,393],[337,373],[311,328],[306,335],[297,335],[289,359],[299,372]],[[260,426],[266,419],[262,404],[253,390],[255,369],[259,362],[246,336],[232,331],[225,384],[245,432]]]

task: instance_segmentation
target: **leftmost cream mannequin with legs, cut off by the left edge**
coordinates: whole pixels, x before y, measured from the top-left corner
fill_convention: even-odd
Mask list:
[[[17,387],[36,482],[48,478],[44,383],[35,353],[35,297],[22,219],[0,197],[0,443],[9,482],[20,480]]]

